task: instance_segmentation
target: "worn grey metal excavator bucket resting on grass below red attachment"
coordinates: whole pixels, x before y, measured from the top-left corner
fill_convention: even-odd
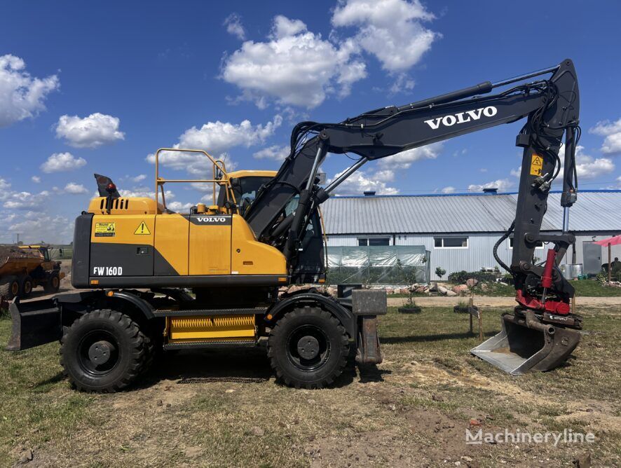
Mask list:
[[[550,371],[571,355],[580,343],[580,331],[503,314],[503,329],[470,352],[512,376],[531,369]]]

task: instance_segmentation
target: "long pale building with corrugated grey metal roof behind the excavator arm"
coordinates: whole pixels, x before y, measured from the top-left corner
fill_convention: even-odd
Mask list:
[[[560,198],[559,192],[550,193],[542,230],[561,229]],[[432,278],[437,280],[437,266],[447,274],[497,266],[493,245],[509,228],[516,207],[517,193],[365,195],[329,198],[322,215],[329,247],[422,245],[431,252]],[[592,241],[621,233],[621,191],[580,191],[569,226],[577,237],[575,263],[585,263],[585,271],[599,270],[608,252]],[[509,262],[512,240],[503,242],[498,252]],[[535,256],[544,255],[543,246],[535,250]],[[571,256],[570,250],[569,263]],[[613,256],[621,256],[621,247],[613,247]]]

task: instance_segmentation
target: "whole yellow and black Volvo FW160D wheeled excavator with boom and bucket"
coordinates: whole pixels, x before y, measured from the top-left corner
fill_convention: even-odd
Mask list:
[[[75,223],[71,283],[78,291],[15,299],[8,349],[60,340],[70,382],[92,392],[130,385],[161,350],[266,342],[278,380],[306,388],[333,383],[352,347],[358,363],[378,364],[377,317],[386,310],[385,292],[339,288],[334,298],[318,287],[326,274],[320,205],[369,161],[525,119],[516,139],[524,149],[517,211],[494,249],[513,277],[517,304],[502,316],[502,331],[472,352],[514,374],[554,369],[578,345],[582,327],[571,311],[574,289],[559,270],[575,242],[568,209],[578,188],[579,106],[574,65],[564,60],[339,123],[298,123],[278,172],[227,172],[205,151],[160,149],[155,199],[125,198],[109,177],[95,174],[100,196]],[[207,158],[211,177],[161,177],[159,159],[170,151]],[[327,153],[357,159],[322,186],[318,168]],[[563,227],[541,233],[548,193],[559,176]],[[177,183],[212,186],[212,205],[198,203],[189,213],[168,209],[164,186]],[[514,248],[506,265],[496,251],[510,235]],[[540,242],[550,249],[536,263]],[[310,286],[279,295],[290,284]]]

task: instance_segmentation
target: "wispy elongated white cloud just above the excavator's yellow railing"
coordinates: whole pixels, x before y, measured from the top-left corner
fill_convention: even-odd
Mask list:
[[[233,170],[234,161],[228,158],[227,152],[236,146],[250,148],[262,144],[268,137],[273,135],[276,128],[282,124],[282,117],[275,116],[272,122],[266,125],[252,125],[250,121],[242,121],[239,124],[228,122],[208,122],[201,128],[192,127],[186,130],[180,137],[175,148],[203,149],[212,157],[224,160],[226,170]],[[155,155],[146,157],[149,163],[155,163]],[[159,163],[161,166],[170,167],[173,170],[186,170],[193,176],[211,178],[212,163],[205,155],[200,153],[182,153],[179,151],[163,151],[160,153]]]

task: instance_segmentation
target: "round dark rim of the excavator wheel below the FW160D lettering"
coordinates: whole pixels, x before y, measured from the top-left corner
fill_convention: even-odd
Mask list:
[[[109,331],[90,331],[78,345],[80,367],[91,376],[107,376],[114,371],[120,360],[118,341]]]

